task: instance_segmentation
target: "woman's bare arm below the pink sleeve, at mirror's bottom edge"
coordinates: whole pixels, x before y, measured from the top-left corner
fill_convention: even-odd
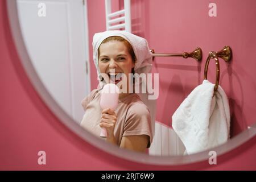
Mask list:
[[[133,135],[122,137],[120,148],[125,148],[136,152],[145,152],[148,140],[148,135]]]

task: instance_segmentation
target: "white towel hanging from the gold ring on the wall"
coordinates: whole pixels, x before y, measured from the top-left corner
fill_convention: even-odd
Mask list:
[[[228,97],[221,86],[214,97],[214,84],[204,80],[172,115],[172,127],[187,154],[207,150],[227,142],[230,132]]]

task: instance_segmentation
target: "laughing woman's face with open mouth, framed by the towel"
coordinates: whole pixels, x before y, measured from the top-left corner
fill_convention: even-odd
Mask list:
[[[125,74],[128,80],[129,73],[134,68],[134,63],[125,43],[111,40],[101,44],[99,52],[98,66],[101,73],[109,75],[109,82],[111,78],[113,83],[117,84],[119,79],[114,79],[113,75],[116,76],[118,73]],[[110,71],[114,71],[114,73],[110,73]],[[110,75],[112,76],[110,77]]]

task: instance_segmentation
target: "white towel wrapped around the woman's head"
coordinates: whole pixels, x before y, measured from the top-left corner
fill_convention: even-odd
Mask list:
[[[94,34],[93,36],[93,60],[97,69],[98,81],[100,82],[100,84],[102,84],[102,82],[100,77],[100,69],[98,68],[98,48],[100,47],[103,40],[109,38],[110,36],[121,36],[131,44],[136,56],[136,63],[134,67],[135,73],[141,74],[151,72],[152,53],[148,48],[148,43],[146,39],[122,30],[99,32]]]

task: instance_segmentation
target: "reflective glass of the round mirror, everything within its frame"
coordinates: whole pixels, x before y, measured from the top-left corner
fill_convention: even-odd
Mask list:
[[[44,86],[75,122],[106,142],[149,155],[188,155],[228,142],[256,119],[256,98],[250,97],[256,53],[249,52],[255,49],[254,1],[230,0],[233,7],[204,1],[16,2],[24,43]],[[247,13],[236,14],[236,7]],[[214,52],[224,46],[233,57],[229,63],[218,59],[214,90]],[[203,49],[199,62],[153,61],[150,51],[195,47]]]

